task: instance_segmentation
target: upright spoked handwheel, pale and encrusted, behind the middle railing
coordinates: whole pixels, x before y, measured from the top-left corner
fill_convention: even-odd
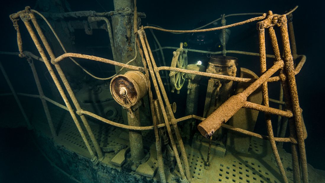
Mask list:
[[[173,59],[171,67],[176,67],[180,69],[185,69],[187,66],[187,50],[183,49],[183,43],[180,43],[179,49],[173,52]],[[177,90],[177,94],[179,90],[183,87],[186,75],[185,73],[170,71],[170,84],[172,85],[172,93],[174,93],[175,89]]]

